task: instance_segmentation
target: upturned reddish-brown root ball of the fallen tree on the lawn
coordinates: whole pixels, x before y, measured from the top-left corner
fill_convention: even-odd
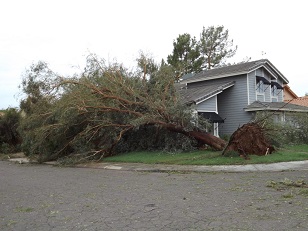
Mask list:
[[[223,155],[237,152],[248,158],[249,154],[267,155],[275,151],[274,147],[266,140],[264,129],[258,123],[244,124],[230,137],[230,141],[223,151]]]

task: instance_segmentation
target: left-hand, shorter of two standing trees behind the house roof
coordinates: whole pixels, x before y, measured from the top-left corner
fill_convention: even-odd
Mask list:
[[[173,52],[168,55],[167,62],[176,70],[176,79],[183,74],[200,72],[203,60],[196,38],[192,38],[190,34],[179,35],[173,41]]]

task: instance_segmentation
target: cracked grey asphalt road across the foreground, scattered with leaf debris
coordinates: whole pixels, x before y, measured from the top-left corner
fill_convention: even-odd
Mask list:
[[[0,161],[0,230],[307,230],[308,171],[160,173]]]

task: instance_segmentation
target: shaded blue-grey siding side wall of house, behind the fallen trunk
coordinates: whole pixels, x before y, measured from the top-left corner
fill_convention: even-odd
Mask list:
[[[248,105],[247,75],[238,75],[221,79],[213,79],[196,83],[189,83],[190,86],[202,86],[210,83],[226,83],[235,81],[234,86],[225,89],[217,95],[218,114],[225,119],[219,124],[219,135],[231,135],[239,126],[251,120],[251,114],[245,112]],[[255,93],[255,91],[254,91]]]

